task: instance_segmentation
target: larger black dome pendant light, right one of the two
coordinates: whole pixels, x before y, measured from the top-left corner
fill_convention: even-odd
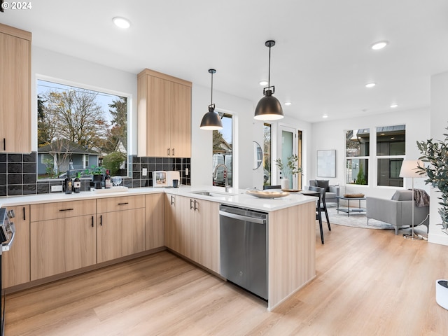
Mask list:
[[[276,99],[276,97],[272,96],[272,94],[275,92],[275,87],[270,86],[271,48],[275,45],[275,41],[266,41],[265,45],[269,47],[269,73],[267,76],[267,87],[263,89],[263,94],[265,95],[265,97],[262,97],[262,99],[260,99],[260,102],[258,102],[257,107],[255,108],[255,116],[253,116],[253,118],[256,120],[279,120],[283,118],[283,109],[281,109],[279,99]]]

